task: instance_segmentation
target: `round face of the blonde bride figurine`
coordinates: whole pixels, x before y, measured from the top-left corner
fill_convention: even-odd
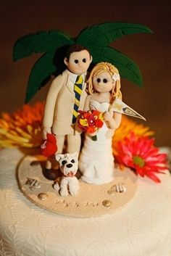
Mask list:
[[[108,92],[114,88],[115,82],[107,72],[93,77],[93,88],[98,92]]]

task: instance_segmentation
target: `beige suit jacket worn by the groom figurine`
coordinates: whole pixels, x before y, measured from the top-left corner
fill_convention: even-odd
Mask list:
[[[74,84],[78,75],[64,70],[53,80],[46,98],[43,127],[52,128],[56,135],[74,134],[72,125],[72,112],[75,104]],[[83,75],[85,80],[85,75]],[[84,109],[86,101],[86,83],[80,96],[79,110]]]

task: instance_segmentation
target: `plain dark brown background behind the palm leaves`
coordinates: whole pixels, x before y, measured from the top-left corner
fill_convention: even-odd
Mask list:
[[[101,22],[133,22],[154,34],[122,38],[112,46],[127,54],[141,69],[144,88],[122,80],[123,100],[146,117],[156,133],[157,146],[171,146],[170,25],[171,1],[0,1],[1,72],[0,112],[21,107],[30,69],[38,54],[12,62],[12,46],[20,36],[38,30],[64,30],[77,36],[88,25]],[[30,103],[44,100],[46,86]]]

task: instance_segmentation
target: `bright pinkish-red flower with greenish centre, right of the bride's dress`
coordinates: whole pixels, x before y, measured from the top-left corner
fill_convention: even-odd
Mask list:
[[[159,153],[159,149],[154,146],[154,139],[145,136],[138,138],[131,133],[129,139],[125,137],[118,142],[118,153],[117,160],[121,165],[126,165],[140,176],[147,176],[157,183],[160,180],[155,174],[167,170],[167,155]]]

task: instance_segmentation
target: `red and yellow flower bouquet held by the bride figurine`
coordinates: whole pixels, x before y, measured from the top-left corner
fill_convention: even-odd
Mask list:
[[[94,133],[96,133],[98,129],[104,125],[104,117],[103,114],[97,110],[80,110],[77,124],[81,131],[92,135],[92,137],[95,137]]]

